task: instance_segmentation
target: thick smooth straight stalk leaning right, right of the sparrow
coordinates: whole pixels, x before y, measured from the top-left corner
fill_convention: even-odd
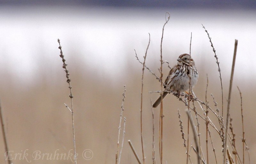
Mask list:
[[[232,91],[232,84],[233,84],[233,77],[234,77],[235,63],[236,63],[237,42],[238,42],[238,41],[235,40],[234,56],[233,56],[233,63],[232,63],[231,76],[230,76],[230,83],[229,83],[228,108],[227,108],[227,118],[226,118],[227,120],[226,120],[226,130],[225,130],[225,142],[224,142],[224,158],[223,158],[223,164],[225,164],[225,162],[226,162],[229,107],[230,107],[231,91]]]

